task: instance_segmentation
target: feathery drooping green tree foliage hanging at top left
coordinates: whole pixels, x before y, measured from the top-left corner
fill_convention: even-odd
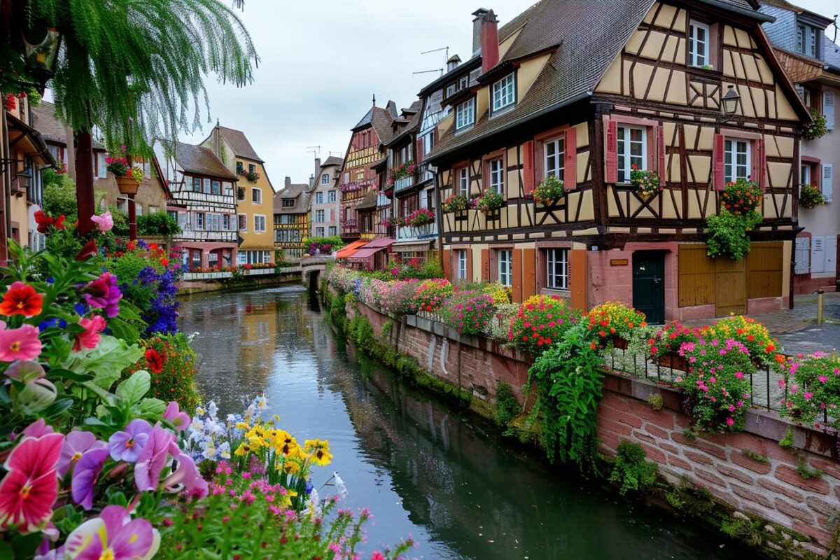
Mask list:
[[[129,152],[196,128],[205,76],[242,86],[258,60],[247,29],[218,0],[17,4],[65,34],[50,82],[60,120],[77,131],[96,126]]]

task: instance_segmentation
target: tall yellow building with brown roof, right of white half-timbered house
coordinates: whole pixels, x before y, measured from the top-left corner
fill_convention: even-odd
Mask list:
[[[202,144],[222,160],[225,167],[239,175],[236,188],[236,212],[239,228],[237,264],[274,262],[274,239],[271,233],[274,187],[265,171],[265,161],[240,130],[216,126]]]

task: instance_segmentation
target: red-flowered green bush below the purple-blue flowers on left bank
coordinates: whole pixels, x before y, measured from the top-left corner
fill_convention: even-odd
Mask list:
[[[151,374],[150,395],[175,400],[182,409],[192,411],[198,404],[195,376],[198,356],[183,335],[162,334],[140,342],[143,357],[128,369],[129,374],[146,370]]]

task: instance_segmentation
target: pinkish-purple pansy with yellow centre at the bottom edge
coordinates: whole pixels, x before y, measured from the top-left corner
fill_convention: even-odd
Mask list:
[[[72,560],[146,560],[158,547],[160,535],[149,521],[132,520],[122,506],[108,505],[67,536],[65,555]]]

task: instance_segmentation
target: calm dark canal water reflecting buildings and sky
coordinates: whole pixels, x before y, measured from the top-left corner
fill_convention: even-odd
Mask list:
[[[198,385],[220,412],[255,395],[299,441],[329,440],[349,489],[370,508],[367,555],[411,535],[434,560],[748,557],[722,537],[509,452],[496,437],[356,356],[298,286],[192,296],[181,328],[197,332]],[[325,489],[329,493],[331,489]]]

